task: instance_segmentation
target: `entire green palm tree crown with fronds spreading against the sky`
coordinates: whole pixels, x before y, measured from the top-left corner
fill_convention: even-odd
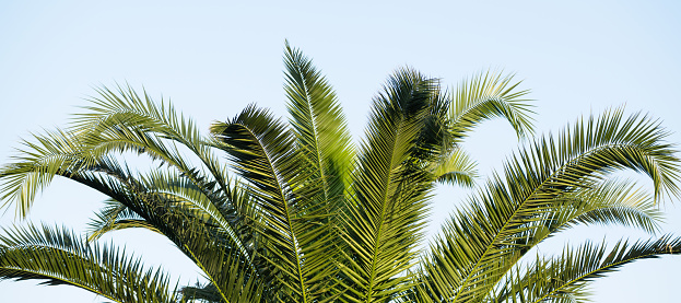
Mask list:
[[[532,133],[528,91],[486,72],[449,94],[399,69],[355,147],[312,61],[286,44],[284,62],[287,124],[249,105],[204,137],[171,104],[118,86],[98,90],[70,127],[24,141],[0,171],[2,199],[19,215],[55,176],[108,199],[86,236],[5,229],[0,277],[115,302],[579,302],[606,272],[681,253],[669,235],[611,249],[587,242],[557,256],[531,249],[576,224],[659,230],[656,206],[679,194],[679,160],[650,117],[612,109],[533,139],[421,248],[435,185],[474,184],[475,163],[460,145],[470,130],[504,118],[519,137]],[[129,153],[160,168],[131,170]],[[647,175],[653,193],[614,177],[626,168]],[[175,287],[161,269],[95,242],[133,228],[172,241],[206,282]]]

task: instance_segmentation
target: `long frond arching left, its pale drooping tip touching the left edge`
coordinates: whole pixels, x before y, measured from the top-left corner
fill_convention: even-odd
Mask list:
[[[106,153],[94,156],[95,152],[87,149],[87,144],[83,144],[78,138],[69,136],[67,132],[51,135],[51,137],[38,137],[38,143],[32,145],[34,152],[30,154],[31,156],[24,156],[20,159],[22,161],[7,166],[2,172],[3,177],[21,179],[23,183],[19,183],[19,185],[27,188],[39,188],[40,182],[51,179],[55,175],[86,185],[122,203],[143,219],[126,222],[126,224],[156,230],[195,261],[200,261],[193,250],[200,248],[200,245],[204,245],[206,241],[210,238],[209,234],[204,232],[206,226],[201,226],[206,220],[197,221],[196,212],[187,212],[177,207],[169,208],[173,205],[177,206],[181,200],[167,199],[167,195],[162,195],[163,193],[160,191],[154,193],[153,187],[146,187],[142,180],[133,177],[128,168],[122,168],[116,160],[107,156]],[[50,138],[50,140],[44,138]],[[59,142],[59,144],[51,142]],[[45,159],[56,161],[46,163]],[[33,175],[38,175],[40,178],[32,177]],[[196,177],[195,175],[193,178],[196,179]],[[13,187],[5,187],[9,188],[8,193],[23,190],[21,186],[14,186],[12,183],[10,185]],[[192,209],[196,210],[196,208]],[[231,232],[223,230],[223,233],[224,240],[222,241],[235,240],[228,236]],[[202,234],[207,238],[198,238],[197,234]],[[227,250],[224,247],[215,249],[222,253],[238,249],[239,242],[232,242],[225,247]],[[246,256],[242,254],[243,257]],[[212,270],[213,275],[224,271],[223,268],[206,268],[206,270]],[[244,271],[242,268],[235,270]],[[245,272],[253,272],[253,269]],[[206,273],[211,276],[211,272]],[[220,281],[216,281],[216,284],[221,285]]]

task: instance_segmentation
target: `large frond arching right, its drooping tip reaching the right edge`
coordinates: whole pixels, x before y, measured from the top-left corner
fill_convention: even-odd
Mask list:
[[[665,136],[649,118],[623,118],[618,109],[521,150],[506,164],[505,178],[495,175],[444,228],[425,266],[430,291],[457,302],[484,296],[507,260],[536,244],[523,240],[551,220],[562,198],[617,170],[647,174],[657,196],[678,193],[678,159]]]

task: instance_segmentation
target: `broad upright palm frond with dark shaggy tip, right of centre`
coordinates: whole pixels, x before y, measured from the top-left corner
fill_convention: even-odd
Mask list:
[[[432,176],[420,165],[439,151],[431,148],[428,153],[432,140],[423,138],[438,135],[425,129],[437,92],[435,80],[402,69],[374,100],[355,197],[344,215],[345,301],[384,302],[412,285],[403,273],[416,255],[432,188]]]

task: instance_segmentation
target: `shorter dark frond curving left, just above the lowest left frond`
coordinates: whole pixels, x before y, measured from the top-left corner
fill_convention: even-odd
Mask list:
[[[177,184],[171,178],[163,179],[168,176],[172,174],[152,173],[148,178],[136,180],[132,186],[127,187],[126,190],[131,191],[129,195],[113,195],[121,206],[113,209],[110,215],[122,213],[142,219],[114,221],[109,225],[113,229],[141,226],[165,235],[197,264],[207,279],[216,287],[223,302],[245,302],[240,300],[251,295],[253,300],[260,298],[269,283],[256,282],[260,281],[261,272],[254,264],[250,253],[244,248],[253,245],[248,237],[235,238],[233,230],[216,222],[210,212],[201,208],[200,201],[188,199],[202,197],[201,195],[191,188],[186,191],[178,190],[174,187]],[[155,187],[158,183],[163,183],[165,187]],[[184,196],[183,193],[189,194]],[[125,208],[119,211],[121,207]],[[105,217],[109,222],[111,219]],[[239,234],[246,233],[239,229],[237,231]]]

